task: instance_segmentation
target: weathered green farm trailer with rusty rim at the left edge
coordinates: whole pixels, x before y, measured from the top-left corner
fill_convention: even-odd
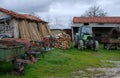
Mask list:
[[[17,61],[24,55],[24,44],[0,40],[0,61],[12,62],[14,72],[24,74],[24,63]]]

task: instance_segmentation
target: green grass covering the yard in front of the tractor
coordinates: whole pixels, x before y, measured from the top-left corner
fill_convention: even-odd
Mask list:
[[[103,62],[105,60],[120,61],[120,49],[104,50],[102,45],[97,52],[88,49],[80,51],[73,47],[66,50],[54,49],[46,52],[45,58],[41,58],[37,63],[27,65],[24,76],[14,76],[5,72],[0,74],[0,78],[69,78],[72,72],[86,71],[88,67],[114,66]]]

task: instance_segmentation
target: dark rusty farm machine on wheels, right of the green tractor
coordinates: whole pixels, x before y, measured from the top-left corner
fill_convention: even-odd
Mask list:
[[[120,30],[119,28],[113,28],[108,37],[103,38],[101,42],[104,44],[104,49],[117,49],[120,47]]]

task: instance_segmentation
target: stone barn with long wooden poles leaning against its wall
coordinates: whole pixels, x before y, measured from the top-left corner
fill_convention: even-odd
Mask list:
[[[41,40],[51,35],[48,22],[30,15],[0,8],[0,34],[13,38]]]

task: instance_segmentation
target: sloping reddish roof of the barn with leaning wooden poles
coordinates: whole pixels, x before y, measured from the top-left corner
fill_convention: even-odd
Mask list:
[[[35,17],[33,15],[30,15],[30,14],[20,14],[20,13],[16,13],[14,11],[7,10],[7,9],[4,9],[4,8],[0,8],[0,11],[6,13],[8,15],[11,15],[15,18],[18,18],[18,19],[27,19],[27,20],[47,23],[47,22],[41,20],[40,18]]]

